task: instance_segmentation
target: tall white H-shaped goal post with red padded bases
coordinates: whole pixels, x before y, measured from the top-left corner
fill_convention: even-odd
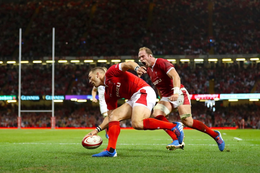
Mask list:
[[[52,28],[52,110],[21,110],[21,50],[22,50],[22,29],[19,29],[19,88],[18,88],[18,118],[17,128],[21,128],[21,112],[51,112],[51,128],[55,129],[54,116],[54,41],[55,28]]]

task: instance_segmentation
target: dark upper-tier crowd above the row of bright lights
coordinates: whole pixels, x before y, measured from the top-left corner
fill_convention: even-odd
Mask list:
[[[212,2],[212,5],[211,5]],[[0,59],[260,53],[258,0],[21,0],[0,4]],[[209,20],[210,19],[210,20]]]

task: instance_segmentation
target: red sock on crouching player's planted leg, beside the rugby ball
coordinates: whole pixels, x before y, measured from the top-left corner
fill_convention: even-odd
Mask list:
[[[106,150],[109,151],[110,148],[116,149],[117,138],[120,133],[120,123],[119,121],[112,121],[108,123],[109,128],[109,138]]]

